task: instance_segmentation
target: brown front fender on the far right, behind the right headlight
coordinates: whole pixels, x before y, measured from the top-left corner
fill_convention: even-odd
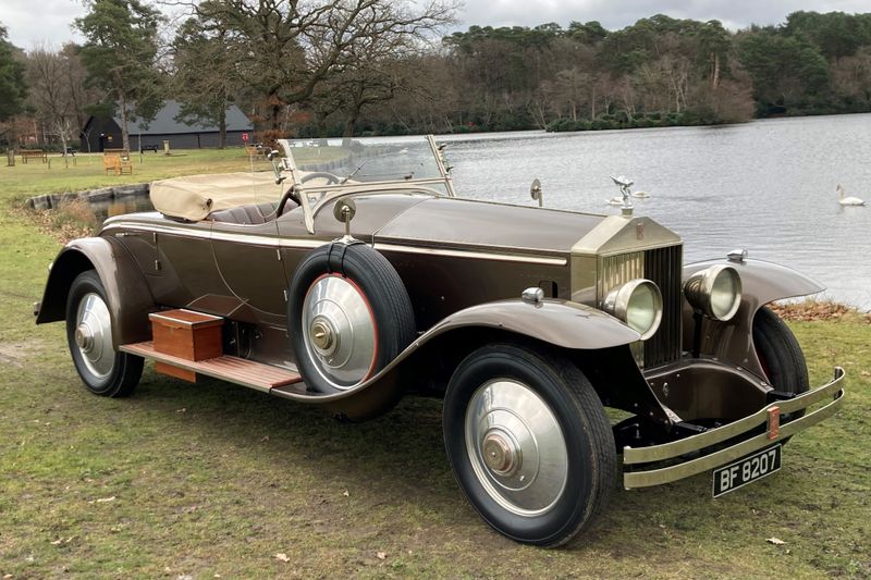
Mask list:
[[[684,280],[714,264],[727,264],[741,276],[741,306],[728,322],[702,321],[701,351],[728,360],[760,377],[765,377],[753,347],[753,317],[773,300],[809,296],[825,289],[819,282],[790,268],[762,260],[708,260],[684,267]],[[684,301],[684,348],[691,349],[695,322],[692,310]]]

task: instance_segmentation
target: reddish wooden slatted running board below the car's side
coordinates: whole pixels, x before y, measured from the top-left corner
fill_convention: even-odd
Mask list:
[[[228,355],[199,361],[187,360],[173,355],[158,353],[155,350],[155,344],[151,341],[125,344],[121,346],[121,350],[131,355],[152,358],[173,367],[192,370],[216,379],[230,381],[231,383],[249,386],[258,391],[269,392],[277,386],[290,385],[303,380],[298,373],[293,371]]]

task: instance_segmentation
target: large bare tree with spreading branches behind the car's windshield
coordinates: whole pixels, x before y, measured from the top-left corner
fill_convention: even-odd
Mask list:
[[[206,29],[222,28],[245,85],[262,96],[270,129],[282,112],[306,101],[318,85],[355,62],[355,50],[383,37],[426,37],[451,22],[454,5],[392,0],[164,0],[195,14]]]

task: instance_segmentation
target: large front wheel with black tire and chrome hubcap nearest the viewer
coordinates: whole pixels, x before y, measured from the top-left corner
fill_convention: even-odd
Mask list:
[[[522,385],[523,390],[518,391],[513,383]],[[565,444],[566,466],[559,478],[553,477],[557,474],[554,471],[540,471],[548,469],[541,466],[551,465],[545,459],[539,459],[531,467],[526,465],[528,458],[540,458],[547,451],[539,443],[528,447],[535,454],[526,453],[527,447],[517,444],[519,453],[513,455],[516,465],[508,468],[515,471],[510,471],[504,478],[493,471],[492,466],[482,465],[482,460],[489,460],[483,458],[483,449],[488,437],[492,436],[490,433],[495,433],[496,442],[502,436],[502,428],[499,427],[501,419],[498,418],[504,417],[505,424],[512,422],[511,415],[498,415],[501,408],[496,407],[486,414],[487,419],[478,416],[480,402],[495,402],[499,397],[498,391],[490,392],[493,388],[508,388],[523,394],[523,398],[514,400],[525,402],[524,407],[530,410],[530,418],[514,424],[535,424],[531,417],[542,416],[540,404],[550,411]],[[536,397],[526,398],[527,391],[535,393],[540,403],[536,403]],[[512,408],[511,412],[523,417],[522,408]],[[539,419],[536,421],[544,424]],[[482,433],[486,436],[475,435],[476,424],[488,427],[488,431]],[[444,399],[443,427],[451,467],[469,503],[487,523],[515,541],[545,547],[562,545],[586,530],[608,505],[617,469],[611,424],[587,378],[575,365],[559,355],[514,344],[494,344],[474,351],[459,363],[451,378]],[[510,435],[503,441],[525,439],[544,442],[551,439],[553,432],[552,425],[545,425],[540,433],[543,436],[536,439],[524,437],[524,428],[515,429],[518,433],[508,429]],[[530,432],[536,431],[530,429]],[[467,437],[467,433],[471,436]],[[478,441],[470,442],[469,439]],[[552,447],[559,448],[559,445]],[[496,457],[490,452],[492,448],[488,448],[488,454]],[[512,454],[507,453],[495,460],[504,456]],[[500,467],[505,465],[507,462]],[[510,498],[504,490],[522,488],[524,479],[519,474],[525,470],[535,471],[526,480],[529,482],[527,488],[556,479],[564,481],[564,485],[561,491],[554,492],[548,490],[547,484],[540,484],[528,496]],[[544,474],[539,477],[540,473]],[[519,493],[526,492],[520,490]],[[539,507],[536,502],[541,502],[542,497],[551,503]]]

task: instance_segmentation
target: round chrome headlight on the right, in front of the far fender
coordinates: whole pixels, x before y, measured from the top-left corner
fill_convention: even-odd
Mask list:
[[[684,296],[697,311],[725,322],[741,305],[741,276],[731,266],[711,266],[687,279]]]

